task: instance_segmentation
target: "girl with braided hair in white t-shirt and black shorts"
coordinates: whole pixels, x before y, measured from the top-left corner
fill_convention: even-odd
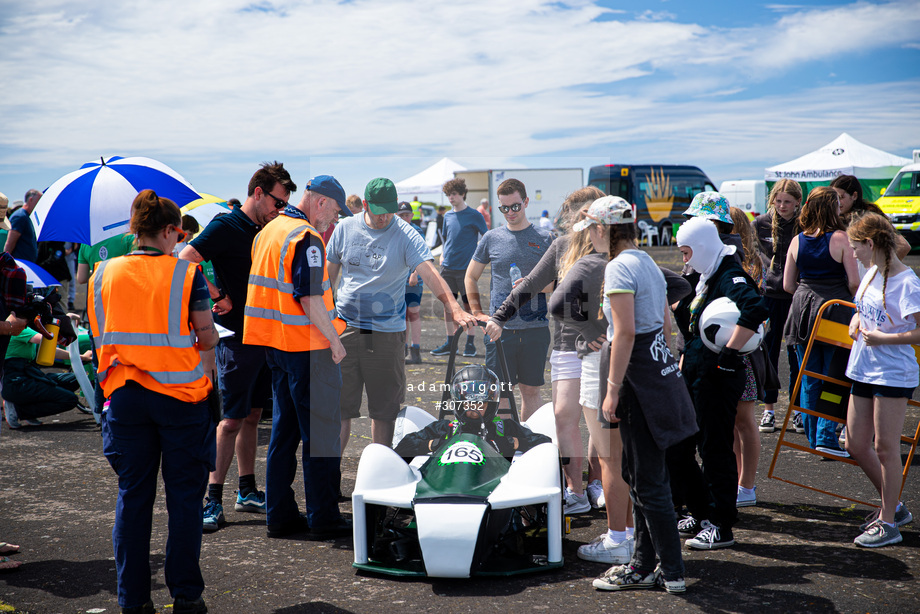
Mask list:
[[[920,279],[898,259],[895,230],[885,217],[863,215],[850,223],[847,237],[868,270],[856,291],[856,314],[850,322],[854,343],[846,374],[853,388],[846,448],[882,499],[881,509],[866,518],[855,543],[878,548],[900,542],[898,527],[913,520],[898,494],[904,415],[920,379],[911,347],[920,343]]]

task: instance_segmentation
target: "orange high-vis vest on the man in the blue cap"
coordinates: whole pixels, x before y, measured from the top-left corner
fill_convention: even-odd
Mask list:
[[[294,298],[291,270],[294,252],[308,235],[322,237],[306,220],[279,215],[265,225],[252,243],[252,269],[243,313],[243,343],[285,352],[324,350],[329,340],[310,321]],[[337,333],[345,330],[332,300],[332,285],[323,258],[323,303]]]

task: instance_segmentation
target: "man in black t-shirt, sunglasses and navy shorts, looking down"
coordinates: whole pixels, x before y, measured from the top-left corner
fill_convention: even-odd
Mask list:
[[[193,239],[179,254],[191,262],[210,261],[216,285],[208,283],[212,311],[232,337],[220,340],[216,351],[224,416],[217,427],[217,458],[208,479],[208,496],[203,511],[205,532],[226,523],[223,510],[224,480],[236,452],[240,487],[235,509],[264,514],[265,493],[256,487],[255,456],[262,407],[271,398],[271,374],[265,362],[265,348],[243,344],[243,309],[252,241],[269,221],[287,205],[297,186],[280,162],[263,164],[249,181],[246,201],[222,215]]]

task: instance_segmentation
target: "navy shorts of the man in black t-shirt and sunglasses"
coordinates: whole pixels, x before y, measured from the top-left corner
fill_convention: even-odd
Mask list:
[[[214,351],[224,418],[242,420],[252,413],[253,407],[270,407],[272,377],[265,362],[265,348],[226,337]]]

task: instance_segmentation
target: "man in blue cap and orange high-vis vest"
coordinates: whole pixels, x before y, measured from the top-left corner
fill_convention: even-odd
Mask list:
[[[272,372],[274,412],[265,477],[269,537],[351,534],[337,497],[339,363],[345,358],[339,334],[345,323],[336,316],[320,236],[340,215],[351,216],[345,190],[334,177],[319,175],[307,183],[300,203],[284,206],[252,244],[243,343],[268,348]],[[300,513],[291,488],[301,442],[306,514]]]

